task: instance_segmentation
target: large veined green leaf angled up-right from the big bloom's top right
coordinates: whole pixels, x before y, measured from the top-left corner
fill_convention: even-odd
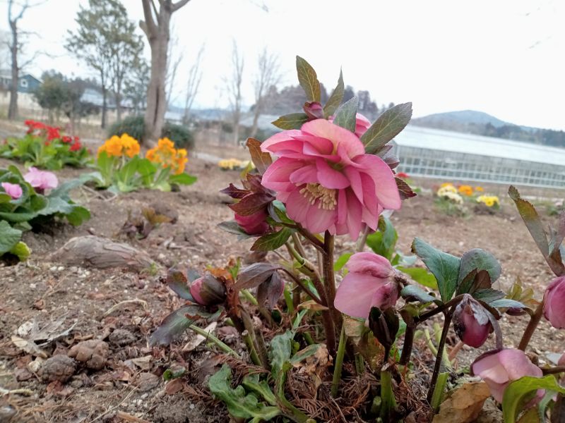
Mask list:
[[[361,137],[367,154],[374,154],[408,125],[412,103],[397,104],[385,111]]]

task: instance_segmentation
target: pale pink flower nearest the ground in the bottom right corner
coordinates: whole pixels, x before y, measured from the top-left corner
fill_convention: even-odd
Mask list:
[[[523,376],[542,377],[542,369],[530,361],[521,350],[493,350],[480,355],[471,364],[471,373],[480,376],[489,386],[490,393],[499,403],[511,381]],[[543,391],[537,391],[538,397]]]

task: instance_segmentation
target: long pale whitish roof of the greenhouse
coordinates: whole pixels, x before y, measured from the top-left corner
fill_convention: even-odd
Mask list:
[[[396,135],[394,141],[399,147],[419,147],[565,166],[565,149],[448,130],[408,125]]]

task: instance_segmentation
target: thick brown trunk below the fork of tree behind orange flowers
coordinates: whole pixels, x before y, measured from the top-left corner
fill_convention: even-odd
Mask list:
[[[161,8],[159,25],[155,36],[149,40],[151,47],[151,77],[147,90],[147,109],[145,109],[145,138],[147,145],[161,137],[167,111],[165,76],[167,74],[167,45],[169,44],[169,20],[171,16]]]

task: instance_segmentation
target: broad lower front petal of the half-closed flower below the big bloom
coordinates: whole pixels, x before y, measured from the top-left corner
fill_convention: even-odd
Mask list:
[[[349,273],[343,278],[335,293],[333,305],[351,317],[366,319],[371,310],[371,301],[379,282],[367,275]]]

